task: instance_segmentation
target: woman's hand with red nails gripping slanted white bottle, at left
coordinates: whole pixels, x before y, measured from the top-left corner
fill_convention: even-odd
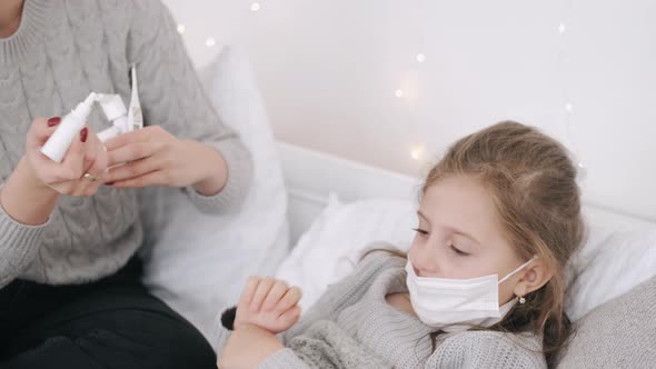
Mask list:
[[[85,127],[77,134],[61,162],[52,161],[41,153],[41,147],[52,136],[61,118],[37,118],[28,131],[26,157],[34,177],[58,193],[67,196],[92,196],[102,184],[107,171],[105,146]],[[85,178],[89,173],[91,178]],[[93,180],[96,178],[96,180]]]

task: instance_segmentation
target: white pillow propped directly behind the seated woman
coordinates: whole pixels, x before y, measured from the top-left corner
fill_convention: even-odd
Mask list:
[[[200,78],[221,121],[250,150],[254,184],[240,213],[226,216],[199,212],[179,189],[142,192],[143,282],[213,345],[216,315],[237,302],[249,276],[272,275],[287,256],[287,195],[248,59],[226,47]]]

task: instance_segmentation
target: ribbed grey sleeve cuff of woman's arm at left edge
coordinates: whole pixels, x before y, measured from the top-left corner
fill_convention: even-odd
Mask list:
[[[2,183],[0,183],[2,191]],[[32,261],[41,246],[43,225],[22,225],[0,206],[0,288],[9,285]]]

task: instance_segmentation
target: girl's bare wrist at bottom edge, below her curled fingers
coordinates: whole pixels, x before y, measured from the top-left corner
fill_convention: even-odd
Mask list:
[[[256,368],[266,358],[285,349],[274,333],[256,326],[241,326],[232,335],[221,352],[217,366],[220,369]]]

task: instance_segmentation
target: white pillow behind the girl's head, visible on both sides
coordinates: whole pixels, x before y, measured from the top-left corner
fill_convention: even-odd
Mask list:
[[[376,241],[407,250],[416,226],[411,201],[376,199],[341,205],[335,197],[277,272],[304,288],[301,307],[355,269]],[[656,228],[594,207],[584,213],[589,237],[568,268],[566,310],[574,320],[656,275]],[[578,275],[577,279],[573,276]]]

